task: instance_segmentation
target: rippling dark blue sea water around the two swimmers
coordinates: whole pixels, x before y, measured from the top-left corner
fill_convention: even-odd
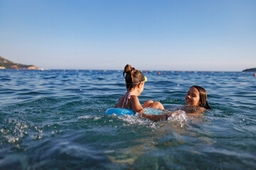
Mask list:
[[[126,92],[122,71],[0,70],[0,169],[256,169],[256,77],[144,72],[139,96],[168,110],[203,86],[213,108],[152,122],[104,115]]]

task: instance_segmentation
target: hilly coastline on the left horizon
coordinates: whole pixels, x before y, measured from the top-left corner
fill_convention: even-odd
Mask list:
[[[0,69],[40,69],[34,65],[19,64],[0,56]]]

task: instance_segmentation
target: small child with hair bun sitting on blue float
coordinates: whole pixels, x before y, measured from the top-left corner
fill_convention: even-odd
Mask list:
[[[124,74],[126,74],[125,77]],[[139,103],[138,97],[142,94],[146,81],[146,77],[144,77],[141,71],[127,64],[124,67],[123,77],[125,79],[127,93],[119,98],[114,108],[129,108],[134,113],[143,113],[143,108],[146,107],[164,109],[164,106],[159,101],[146,101],[143,106]],[[144,116],[142,115],[142,117]]]

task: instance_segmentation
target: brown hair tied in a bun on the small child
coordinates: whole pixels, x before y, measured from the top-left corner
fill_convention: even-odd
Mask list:
[[[126,74],[124,77],[124,73]],[[144,81],[144,75],[138,69],[134,69],[131,65],[127,64],[124,67],[123,77],[125,79],[125,84],[127,86],[127,90],[134,88],[136,83]]]

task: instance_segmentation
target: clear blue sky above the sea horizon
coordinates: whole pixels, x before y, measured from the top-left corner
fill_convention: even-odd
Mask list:
[[[256,67],[255,0],[0,0],[0,56],[44,69]]]

